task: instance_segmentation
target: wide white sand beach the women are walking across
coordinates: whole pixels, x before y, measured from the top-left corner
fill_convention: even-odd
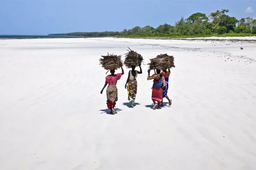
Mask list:
[[[228,39],[0,40],[0,169],[255,170],[256,42]],[[127,47],[145,59],[136,106],[124,67],[110,115],[99,58]],[[172,105],[152,110],[146,64],[161,53]]]

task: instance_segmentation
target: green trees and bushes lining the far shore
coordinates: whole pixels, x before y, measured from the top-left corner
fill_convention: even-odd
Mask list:
[[[150,25],[145,27],[133,27],[121,32],[91,32],[91,33],[67,33],[51,35],[70,35],[70,36],[123,36],[123,37],[206,37],[206,36],[248,36],[256,35],[256,19],[252,17],[241,18],[227,15],[229,10],[222,9],[210,13],[194,13],[188,18],[175,22],[175,25],[167,23],[153,28]]]

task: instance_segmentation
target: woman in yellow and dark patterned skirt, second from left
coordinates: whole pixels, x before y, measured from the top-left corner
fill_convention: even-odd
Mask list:
[[[134,107],[134,102],[137,94],[137,74],[142,74],[142,69],[140,67],[140,71],[138,72],[135,70],[136,66],[132,66],[132,70],[129,71],[128,73],[128,78],[125,84],[125,89],[127,87],[128,90],[128,101],[131,103],[131,107]],[[128,86],[127,86],[128,84]]]

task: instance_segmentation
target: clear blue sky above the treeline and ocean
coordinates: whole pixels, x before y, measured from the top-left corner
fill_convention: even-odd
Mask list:
[[[0,34],[122,31],[123,28],[165,22],[174,25],[181,16],[229,9],[237,19],[256,18],[256,1],[167,0],[0,0]]]

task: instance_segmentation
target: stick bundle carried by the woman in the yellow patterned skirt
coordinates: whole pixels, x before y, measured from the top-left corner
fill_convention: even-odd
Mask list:
[[[127,50],[127,51],[129,51],[129,50]],[[142,55],[140,55],[136,51],[133,51],[130,49],[130,51],[125,54],[125,61],[123,62],[123,64],[125,64],[125,66],[127,68],[131,68],[133,66],[137,67],[137,66],[141,65],[143,60],[144,59],[143,59]]]

